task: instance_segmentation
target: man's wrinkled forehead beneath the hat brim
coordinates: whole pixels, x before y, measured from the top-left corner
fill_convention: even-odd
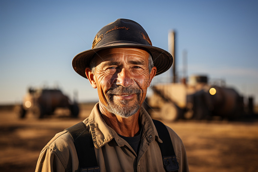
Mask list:
[[[98,51],[93,59],[96,65],[106,62],[132,62],[141,61],[148,63],[149,53],[143,48],[123,47],[123,48],[110,48]]]

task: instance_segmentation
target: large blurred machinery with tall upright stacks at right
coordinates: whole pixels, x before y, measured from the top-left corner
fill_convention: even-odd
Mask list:
[[[168,47],[173,55],[173,79],[171,83],[152,86],[153,94],[146,98],[144,107],[152,114],[159,112],[163,119],[211,119],[220,116],[237,119],[246,112],[243,97],[225,83],[208,84],[205,75],[193,75],[187,82],[187,52],[183,52],[183,77],[176,76],[175,32],[168,34]],[[248,113],[252,113],[252,98],[249,98]],[[152,111],[150,110],[152,109]]]

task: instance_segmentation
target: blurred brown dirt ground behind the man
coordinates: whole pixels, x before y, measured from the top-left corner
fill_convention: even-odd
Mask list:
[[[62,110],[42,120],[32,114],[19,119],[13,110],[1,110],[0,171],[34,171],[46,143],[56,133],[85,119],[92,107],[92,104],[83,106],[77,119]],[[160,119],[158,114],[154,118]],[[257,171],[257,121],[162,122],[183,140],[191,172]]]

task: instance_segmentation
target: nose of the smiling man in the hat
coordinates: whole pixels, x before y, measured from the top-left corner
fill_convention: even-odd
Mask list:
[[[117,74],[116,85],[128,87],[134,84],[134,80],[131,78],[130,72],[123,68]]]

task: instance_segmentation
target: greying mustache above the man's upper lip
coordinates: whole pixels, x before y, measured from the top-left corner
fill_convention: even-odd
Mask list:
[[[140,94],[142,91],[141,89],[134,87],[134,86],[129,86],[129,87],[123,87],[123,86],[118,86],[115,88],[111,88],[107,91],[107,94],[114,94],[114,95],[131,95],[131,94]]]

